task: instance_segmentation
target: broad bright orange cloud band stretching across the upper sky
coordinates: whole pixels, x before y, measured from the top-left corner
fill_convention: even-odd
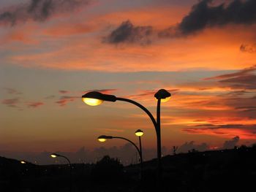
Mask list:
[[[237,34],[230,34],[229,30],[226,30],[226,34],[223,31],[218,34],[220,31],[205,31],[200,36],[189,37],[189,41],[175,39],[154,42],[147,47],[116,47],[102,44],[99,36],[97,39],[81,37],[70,41],[68,46],[58,46],[58,49],[45,50],[45,53],[13,55],[10,61],[27,67],[105,72],[166,72],[200,68],[223,70],[252,66],[256,55],[240,52],[238,45],[241,40]],[[219,39],[206,39],[208,36]],[[230,39],[233,39],[231,44]]]

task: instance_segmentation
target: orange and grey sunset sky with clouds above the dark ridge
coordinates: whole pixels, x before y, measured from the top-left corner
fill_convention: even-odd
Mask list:
[[[67,154],[135,162],[123,140],[155,158],[146,114],[121,101],[83,104],[89,91],[162,103],[163,155],[256,142],[256,1],[1,0],[0,155],[39,164]]]

